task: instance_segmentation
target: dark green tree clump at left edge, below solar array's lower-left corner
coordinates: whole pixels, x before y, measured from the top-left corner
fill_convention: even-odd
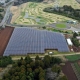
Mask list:
[[[6,67],[8,64],[12,63],[10,56],[0,57],[0,67]]]

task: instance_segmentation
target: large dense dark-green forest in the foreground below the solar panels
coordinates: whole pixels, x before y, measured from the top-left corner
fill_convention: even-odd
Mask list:
[[[46,55],[44,59],[36,56],[35,60],[32,60],[29,55],[27,55],[25,59],[21,58],[15,62],[9,72],[3,76],[2,80],[45,80],[46,69],[50,67],[52,67],[51,70],[53,72],[57,73],[58,77],[61,71],[60,63],[61,59],[48,55]],[[63,80],[62,77],[58,80]],[[64,80],[67,80],[66,76]]]

